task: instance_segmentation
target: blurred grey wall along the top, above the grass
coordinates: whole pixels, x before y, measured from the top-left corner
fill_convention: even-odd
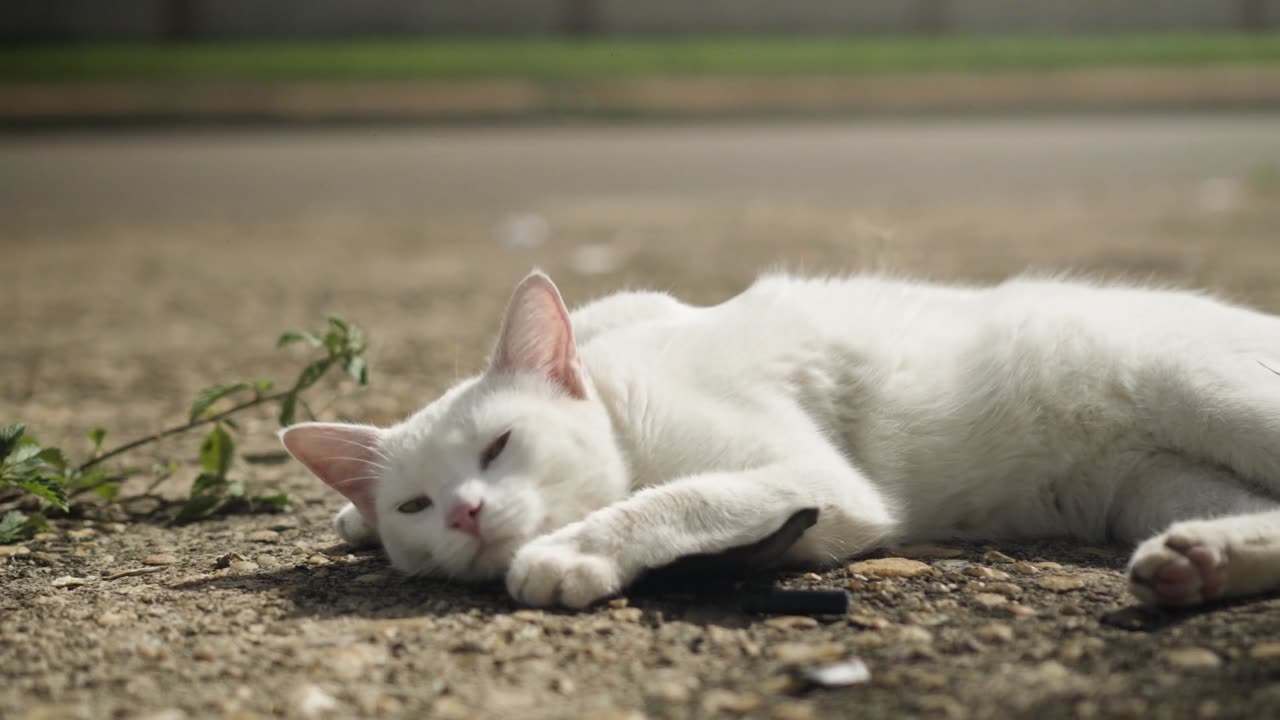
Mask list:
[[[1280,27],[1280,0],[6,0],[0,40],[1047,33]]]

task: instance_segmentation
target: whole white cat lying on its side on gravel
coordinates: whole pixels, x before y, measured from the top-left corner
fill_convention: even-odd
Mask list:
[[[646,569],[817,525],[787,561],[901,542],[1142,542],[1134,594],[1280,588],[1280,318],[1188,292],[764,277],[713,307],[572,315],[534,273],[484,374],[380,429],[284,445],[412,574],[582,607]],[[1158,533],[1158,534],[1157,534]]]

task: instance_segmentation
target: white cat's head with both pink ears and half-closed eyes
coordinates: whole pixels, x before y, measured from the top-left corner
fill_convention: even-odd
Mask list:
[[[536,272],[516,287],[483,374],[389,428],[303,423],[280,438],[411,574],[500,577],[521,544],[627,486],[568,310]]]

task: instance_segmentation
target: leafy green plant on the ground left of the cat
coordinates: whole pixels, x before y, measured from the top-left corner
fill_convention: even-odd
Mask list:
[[[285,507],[289,503],[287,495],[257,493],[244,480],[230,475],[236,457],[232,430],[237,429],[233,415],[262,405],[276,405],[280,425],[289,425],[297,418],[300,407],[307,416],[314,416],[303,393],[330,370],[340,369],[358,384],[369,383],[365,336],[346,320],[329,318],[321,333],[292,331],[276,341],[278,347],[294,343],[307,345],[321,355],[307,363],[288,388],[275,391],[275,383],[261,379],[206,387],[191,404],[184,423],[157,433],[104,450],[106,430],[93,428],[88,433],[92,452],[78,464],[70,462],[60,447],[42,447],[27,434],[27,427],[22,423],[0,428],[0,505],[10,506],[0,515],[0,542],[27,538],[47,528],[44,511],[28,514],[12,507],[18,502],[35,502],[41,510],[51,507],[65,512],[78,498],[90,493],[108,502],[156,500],[154,491],[177,473],[177,462],[152,468],[152,479],[145,491],[122,497],[122,483],[141,470],[109,468],[108,461],[170,436],[210,425],[200,443],[200,473],[192,480],[188,497],[177,509],[173,520],[191,521],[224,512]]]

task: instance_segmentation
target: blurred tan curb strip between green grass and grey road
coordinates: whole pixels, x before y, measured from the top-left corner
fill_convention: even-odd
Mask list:
[[[946,113],[1280,105],[1280,68],[540,83],[0,85],[0,122],[457,120],[541,115]]]

